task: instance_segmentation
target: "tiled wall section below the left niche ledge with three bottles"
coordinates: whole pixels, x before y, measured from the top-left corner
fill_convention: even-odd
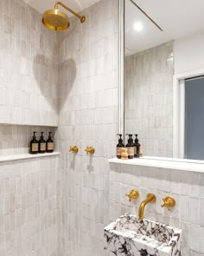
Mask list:
[[[0,163],[0,255],[56,256],[58,157]]]

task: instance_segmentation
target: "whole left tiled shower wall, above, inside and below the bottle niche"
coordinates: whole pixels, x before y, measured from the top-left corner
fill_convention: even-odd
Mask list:
[[[0,24],[0,255],[55,256],[58,156],[5,159],[58,124],[56,33],[21,0],[0,1]]]

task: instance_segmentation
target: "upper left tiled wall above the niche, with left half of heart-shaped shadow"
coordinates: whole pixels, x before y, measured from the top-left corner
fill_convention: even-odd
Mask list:
[[[0,1],[0,122],[57,126],[57,38],[22,0]]]

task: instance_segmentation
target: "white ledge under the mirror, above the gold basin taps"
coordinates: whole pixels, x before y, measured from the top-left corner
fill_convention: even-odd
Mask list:
[[[119,160],[112,158],[109,160],[111,163],[143,166],[143,167],[158,167],[165,169],[183,170],[187,172],[204,173],[204,161],[190,161],[174,158],[159,158],[159,157],[141,157],[130,160]]]

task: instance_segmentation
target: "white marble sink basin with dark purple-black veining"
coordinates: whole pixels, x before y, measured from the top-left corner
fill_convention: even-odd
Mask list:
[[[105,249],[114,256],[180,256],[182,229],[126,214],[104,229]]]

